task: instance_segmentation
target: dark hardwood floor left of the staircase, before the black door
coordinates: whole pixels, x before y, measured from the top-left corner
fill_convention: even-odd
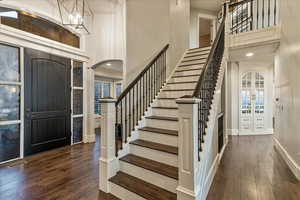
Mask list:
[[[98,190],[99,139],[0,166],[0,200],[116,200]]]

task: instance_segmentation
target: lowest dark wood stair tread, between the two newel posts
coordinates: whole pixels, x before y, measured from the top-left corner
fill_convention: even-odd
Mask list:
[[[177,199],[177,195],[175,193],[169,192],[124,172],[118,172],[117,175],[109,179],[109,181],[147,200]]]

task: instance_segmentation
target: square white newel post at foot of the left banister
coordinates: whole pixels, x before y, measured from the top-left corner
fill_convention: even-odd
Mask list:
[[[99,159],[99,189],[110,192],[109,178],[117,171],[115,157],[116,99],[101,99],[101,149]]]

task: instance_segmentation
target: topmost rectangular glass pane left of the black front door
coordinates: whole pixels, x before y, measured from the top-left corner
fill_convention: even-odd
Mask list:
[[[0,44],[0,81],[20,81],[18,48]]]

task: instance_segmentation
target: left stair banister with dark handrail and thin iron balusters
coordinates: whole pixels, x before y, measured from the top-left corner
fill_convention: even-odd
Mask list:
[[[166,45],[128,85],[119,96],[116,106],[116,155],[127,143],[131,131],[141,120],[147,108],[166,82]]]

